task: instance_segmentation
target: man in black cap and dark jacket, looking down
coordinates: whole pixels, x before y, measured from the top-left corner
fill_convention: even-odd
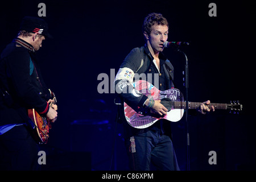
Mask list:
[[[57,105],[51,104],[52,93],[44,84],[35,55],[46,38],[51,38],[47,23],[26,16],[18,37],[1,54],[0,171],[38,169],[39,146],[31,132],[36,126],[28,119],[28,109],[48,122],[57,118]]]

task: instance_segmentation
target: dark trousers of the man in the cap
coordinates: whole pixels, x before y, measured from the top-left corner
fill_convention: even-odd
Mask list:
[[[38,170],[39,146],[24,125],[0,135],[0,171]]]

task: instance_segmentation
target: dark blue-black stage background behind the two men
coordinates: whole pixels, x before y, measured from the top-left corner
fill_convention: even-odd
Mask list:
[[[252,1],[6,1],[0,6],[0,49],[17,34],[25,15],[38,16],[46,4],[48,39],[38,51],[44,80],[55,92],[58,119],[47,152],[49,170],[128,170],[122,125],[115,123],[113,93],[98,93],[97,77],[119,65],[144,44],[141,26],[148,13],[170,23],[168,41],[187,41],[189,101],[240,101],[243,111],[189,117],[191,170],[255,170],[255,5]],[[217,5],[210,17],[209,3]],[[185,59],[165,55],[175,67],[176,87],[185,94]],[[111,79],[109,79],[109,85]],[[110,89],[109,89],[110,92]],[[185,117],[172,123],[180,168],[186,170]],[[217,164],[210,165],[209,151]]]

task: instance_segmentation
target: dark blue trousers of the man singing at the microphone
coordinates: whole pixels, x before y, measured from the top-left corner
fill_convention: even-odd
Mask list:
[[[172,140],[159,131],[147,131],[126,140],[129,166],[132,170],[179,171]]]

